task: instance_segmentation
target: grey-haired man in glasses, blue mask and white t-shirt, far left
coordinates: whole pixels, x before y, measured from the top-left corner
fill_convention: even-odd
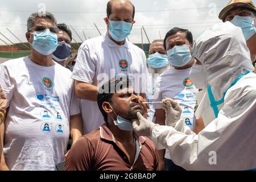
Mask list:
[[[73,143],[81,137],[71,72],[52,60],[57,32],[51,13],[31,14],[26,32],[31,55],[0,65],[0,84],[9,107],[3,149],[10,170],[56,170],[64,160],[69,134]]]

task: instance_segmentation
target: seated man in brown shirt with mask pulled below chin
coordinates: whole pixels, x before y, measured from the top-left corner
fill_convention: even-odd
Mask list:
[[[115,92],[110,93],[111,90]],[[131,120],[137,118],[137,112],[142,115],[146,112],[142,101],[127,77],[114,77],[105,82],[97,94],[105,124],[71,147],[65,170],[158,170],[158,153],[151,140],[133,133]]]

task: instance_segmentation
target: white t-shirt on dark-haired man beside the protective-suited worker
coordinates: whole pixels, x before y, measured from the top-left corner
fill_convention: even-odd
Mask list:
[[[189,78],[191,68],[177,70],[173,67],[167,69],[156,79],[154,101],[160,102],[164,98],[169,97],[179,102],[183,112],[181,118],[184,123],[193,130],[195,128],[195,113],[196,106],[196,89],[195,85]],[[154,104],[155,109],[161,109],[161,104]],[[166,159],[170,159],[170,154],[166,150]]]

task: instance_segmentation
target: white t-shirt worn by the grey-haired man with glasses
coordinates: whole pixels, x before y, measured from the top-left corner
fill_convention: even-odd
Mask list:
[[[64,160],[69,116],[80,113],[71,72],[42,67],[28,57],[0,65],[7,96],[5,160],[11,170],[56,170]]]

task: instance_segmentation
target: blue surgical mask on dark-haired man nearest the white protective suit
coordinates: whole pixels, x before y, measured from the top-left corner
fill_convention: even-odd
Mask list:
[[[168,61],[175,67],[183,67],[192,59],[190,46],[174,46],[167,51]]]

